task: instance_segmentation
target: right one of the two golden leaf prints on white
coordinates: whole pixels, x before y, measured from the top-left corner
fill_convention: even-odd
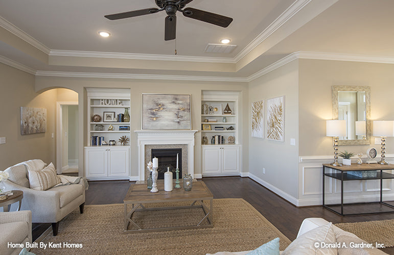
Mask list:
[[[267,100],[267,139],[285,141],[285,96]]]

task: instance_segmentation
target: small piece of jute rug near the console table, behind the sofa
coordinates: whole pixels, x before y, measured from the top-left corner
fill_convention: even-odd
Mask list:
[[[394,247],[394,219],[353,223],[337,223],[337,227],[351,232],[367,243],[384,243]]]

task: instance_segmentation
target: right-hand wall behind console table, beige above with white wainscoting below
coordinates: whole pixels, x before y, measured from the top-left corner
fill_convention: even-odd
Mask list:
[[[394,120],[393,81],[393,64],[299,60],[299,206],[321,205],[321,165],[334,161],[332,138],[326,137],[326,120],[332,119],[332,86],[370,86],[371,119]],[[338,149],[355,154],[365,154],[370,147],[380,151],[380,145],[374,144],[374,137],[370,141],[370,145],[339,146]],[[394,163],[394,138],[387,138],[386,144],[386,159]],[[326,181],[327,199],[338,202],[340,182],[334,182],[328,177]],[[391,180],[383,181],[384,199],[394,199],[393,185]],[[351,202],[376,201],[379,187],[378,181],[346,182],[344,196]]]

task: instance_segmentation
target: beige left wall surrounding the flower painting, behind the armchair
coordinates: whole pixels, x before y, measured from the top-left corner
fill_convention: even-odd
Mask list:
[[[55,99],[56,91],[36,93],[34,75],[0,63],[0,136],[6,144],[0,144],[0,170],[16,163],[42,159],[55,162]],[[20,135],[20,107],[47,109],[47,132]]]

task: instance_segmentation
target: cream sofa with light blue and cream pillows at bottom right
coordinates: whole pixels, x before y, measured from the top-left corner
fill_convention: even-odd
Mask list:
[[[297,238],[284,250],[279,251],[279,238],[256,250],[229,252],[221,251],[206,255],[256,255],[256,254],[339,254],[339,255],[384,255],[387,254],[356,235],[341,230],[322,218],[306,218],[301,224]],[[373,244],[375,245],[375,244]]]

